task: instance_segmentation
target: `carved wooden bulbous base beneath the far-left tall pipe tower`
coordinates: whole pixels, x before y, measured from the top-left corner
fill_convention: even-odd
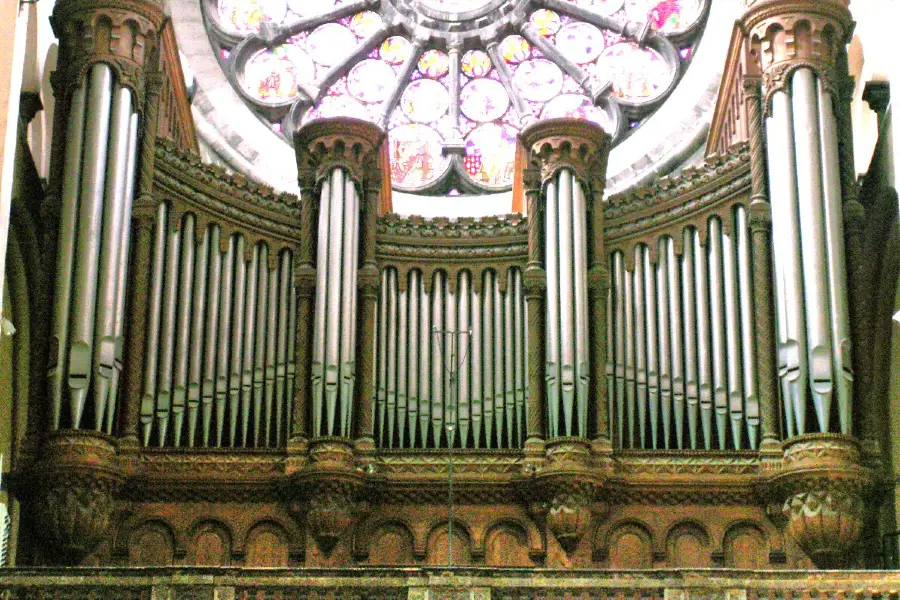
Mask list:
[[[81,563],[107,536],[124,479],[112,438],[58,431],[31,471],[35,531],[47,558]]]

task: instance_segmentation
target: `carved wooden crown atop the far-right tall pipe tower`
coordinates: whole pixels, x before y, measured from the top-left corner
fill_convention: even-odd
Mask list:
[[[761,0],[747,9],[742,26],[762,71],[763,106],[769,106],[775,92],[787,91],[791,76],[801,68],[815,72],[829,90],[836,89],[837,56],[853,31],[848,4],[848,0]]]

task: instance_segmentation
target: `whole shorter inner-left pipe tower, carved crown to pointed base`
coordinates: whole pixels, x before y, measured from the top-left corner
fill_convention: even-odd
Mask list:
[[[374,234],[386,184],[379,165],[384,140],[380,128],[355,119],[313,122],[294,135],[302,227],[310,233],[300,248],[300,272],[312,292],[306,320],[298,314],[298,327],[311,338],[304,341],[311,351],[304,348],[301,356],[298,349],[298,373],[306,374],[298,389],[308,390],[312,418],[308,460],[289,456],[288,494],[291,510],[326,555],[358,516],[364,476],[355,454],[374,448]]]

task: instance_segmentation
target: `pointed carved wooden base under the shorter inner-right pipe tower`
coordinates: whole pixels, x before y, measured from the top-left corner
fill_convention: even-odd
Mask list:
[[[593,464],[589,443],[557,438],[546,443],[546,461],[532,464],[521,482],[528,512],[546,525],[572,554],[585,534],[605,516],[600,502],[608,473]]]

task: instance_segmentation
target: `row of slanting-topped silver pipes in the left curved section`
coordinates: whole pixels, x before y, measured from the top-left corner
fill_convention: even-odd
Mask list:
[[[293,257],[158,207],[141,424],[144,445],[272,447],[289,435]],[[177,225],[177,226],[176,226]],[[222,248],[224,247],[224,251]]]

